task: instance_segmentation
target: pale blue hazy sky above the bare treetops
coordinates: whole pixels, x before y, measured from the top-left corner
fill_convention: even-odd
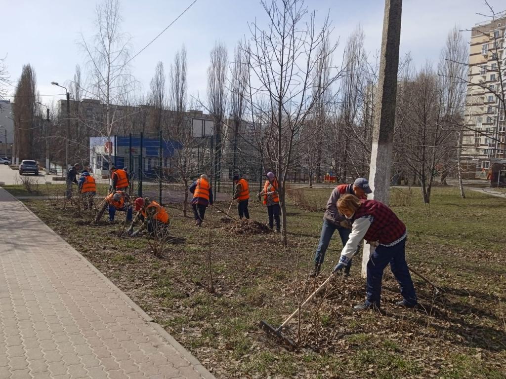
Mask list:
[[[122,29],[132,38],[135,54],[170,24],[193,0],[122,0]],[[411,52],[414,64],[437,62],[448,31],[454,26],[470,28],[484,21],[476,13],[487,13],[483,0],[404,0],[401,28],[401,55]],[[496,11],[506,8],[504,0],[489,0]],[[79,48],[81,35],[94,34],[95,0],[0,0],[3,37],[0,56],[7,55],[7,65],[16,84],[23,64],[30,63],[37,75],[37,88],[43,102],[64,99],[63,89],[51,81],[68,84],[75,65],[86,74],[86,55]],[[340,49],[334,62],[341,61],[346,38],[360,24],[365,32],[365,47],[371,59],[381,43],[383,0],[307,0],[310,10],[317,11],[317,20],[327,12],[340,37]],[[259,0],[197,0],[173,26],[133,62],[132,71],[142,90],[149,90],[149,81],[158,61],[168,72],[175,52],[184,44],[188,56],[189,92],[205,98],[206,68],[209,51],[216,40],[229,49],[229,57],[239,39],[249,35],[248,22],[257,18],[263,23],[264,10]],[[265,25],[265,23],[263,23]],[[470,33],[465,32],[466,40]],[[14,89],[10,88],[11,93]],[[47,96],[49,95],[49,96]]]

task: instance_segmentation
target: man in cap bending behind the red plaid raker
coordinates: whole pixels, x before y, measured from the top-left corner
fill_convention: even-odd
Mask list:
[[[327,251],[334,231],[337,230],[339,232],[343,246],[345,246],[348,241],[350,225],[346,217],[340,214],[335,206],[338,199],[344,194],[355,195],[359,199],[367,199],[367,194],[370,193],[372,193],[372,191],[366,178],[357,178],[351,184],[340,184],[333,189],[327,201],[327,209],[323,215],[320,241],[318,242],[315,253],[315,268],[310,274],[311,277],[316,277],[320,273],[321,265],[325,258],[325,252]],[[347,276],[350,274],[351,263],[352,261],[350,259],[345,268],[345,275]]]

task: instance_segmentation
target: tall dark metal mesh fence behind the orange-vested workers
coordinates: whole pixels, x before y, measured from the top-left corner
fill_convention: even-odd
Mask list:
[[[165,138],[161,132],[116,135],[111,139],[111,162],[129,173],[131,193],[163,204],[182,203],[185,196],[190,200],[188,186],[200,174],[209,177],[216,201],[231,199],[234,174],[248,180],[251,192],[260,191],[265,181],[260,155],[237,141],[217,147],[210,136],[184,144]],[[102,169],[108,168],[108,162],[103,161]]]

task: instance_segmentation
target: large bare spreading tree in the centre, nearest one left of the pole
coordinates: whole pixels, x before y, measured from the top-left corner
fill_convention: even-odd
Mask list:
[[[286,245],[287,173],[292,169],[294,150],[301,144],[302,131],[319,100],[320,95],[315,97],[312,91],[314,72],[321,60],[331,56],[335,45],[321,49],[329,31],[328,18],[317,27],[315,12],[308,14],[304,2],[272,0],[262,1],[262,5],[269,24],[266,29],[257,22],[250,26],[249,97],[264,167],[274,169],[279,182],[282,239]],[[338,74],[330,75],[325,86],[337,77]]]

